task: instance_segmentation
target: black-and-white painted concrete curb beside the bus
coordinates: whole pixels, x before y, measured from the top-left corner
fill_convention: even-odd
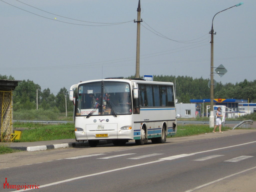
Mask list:
[[[98,145],[105,145],[109,143],[112,143],[112,140],[100,140]],[[10,148],[21,150],[21,151],[41,151],[41,150],[48,150],[48,149],[68,148],[68,147],[86,147],[86,146],[90,146],[88,141],[53,144],[53,145],[39,145],[39,146],[30,146],[30,147],[11,147],[10,146]]]

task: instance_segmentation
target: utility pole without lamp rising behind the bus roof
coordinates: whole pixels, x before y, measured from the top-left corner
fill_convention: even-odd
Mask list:
[[[134,23],[137,23],[137,45],[136,45],[136,73],[135,78],[140,78],[140,31],[141,31],[141,1],[139,0],[137,8],[137,21],[134,19]]]

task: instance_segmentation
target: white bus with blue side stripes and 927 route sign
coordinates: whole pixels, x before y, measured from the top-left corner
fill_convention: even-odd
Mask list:
[[[74,91],[76,93],[74,93]],[[164,143],[176,134],[176,108],[173,83],[137,79],[106,78],[71,86],[75,97],[76,141],[99,140],[138,145],[151,140]]]

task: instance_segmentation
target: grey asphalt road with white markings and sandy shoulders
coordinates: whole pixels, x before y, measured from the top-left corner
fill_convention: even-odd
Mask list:
[[[36,183],[36,191],[255,191],[256,130],[19,152],[1,155],[0,163],[3,183]]]

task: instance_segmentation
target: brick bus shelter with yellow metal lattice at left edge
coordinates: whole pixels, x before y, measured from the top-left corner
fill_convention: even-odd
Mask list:
[[[10,142],[13,133],[13,90],[19,80],[0,79],[0,142]]]

